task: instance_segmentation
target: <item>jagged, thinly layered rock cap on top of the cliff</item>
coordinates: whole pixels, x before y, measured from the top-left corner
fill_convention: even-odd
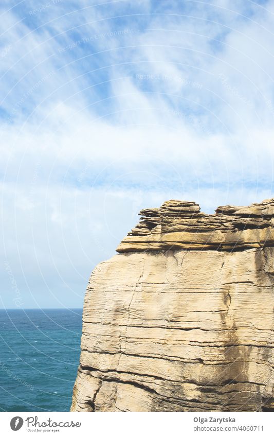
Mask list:
[[[140,222],[117,252],[161,250],[244,250],[274,246],[274,199],[250,206],[219,206],[200,212],[195,202],[169,200],[142,209]]]

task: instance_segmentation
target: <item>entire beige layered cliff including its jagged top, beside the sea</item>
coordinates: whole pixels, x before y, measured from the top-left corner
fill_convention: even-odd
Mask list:
[[[274,411],[274,199],[140,214],[90,276],[71,411]]]

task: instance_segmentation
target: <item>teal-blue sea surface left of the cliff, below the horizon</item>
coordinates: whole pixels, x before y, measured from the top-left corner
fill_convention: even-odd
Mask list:
[[[0,310],[0,411],[69,411],[82,309]]]

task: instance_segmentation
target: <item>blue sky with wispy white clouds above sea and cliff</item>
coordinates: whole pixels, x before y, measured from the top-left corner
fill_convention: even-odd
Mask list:
[[[2,308],[81,308],[138,212],[274,197],[273,0],[2,0]]]

